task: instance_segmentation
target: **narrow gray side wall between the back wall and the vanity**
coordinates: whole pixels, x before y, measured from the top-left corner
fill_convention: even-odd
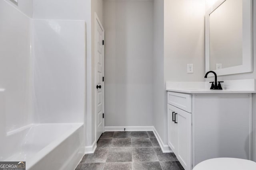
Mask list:
[[[167,94],[164,82],[164,0],[154,0],[153,125],[167,144]]]

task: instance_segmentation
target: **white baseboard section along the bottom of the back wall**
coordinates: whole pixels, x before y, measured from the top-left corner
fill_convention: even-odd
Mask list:
[[[153,131],[154,126],[105,126],[105,131]]]

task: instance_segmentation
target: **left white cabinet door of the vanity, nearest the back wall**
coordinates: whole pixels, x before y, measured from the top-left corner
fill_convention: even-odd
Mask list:
[[[178,124],[174,121],[174,107],[168,104],[168,145],[174,153],[178,148]],[[177,117],[177,114],[176,114]]]

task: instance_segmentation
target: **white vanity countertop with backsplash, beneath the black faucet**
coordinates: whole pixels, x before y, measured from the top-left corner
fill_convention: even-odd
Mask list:
[[[166,91],[188,94],[256,93],[254,79],[224,80],[223,90],[210,90],[209,82],[166,82]]]

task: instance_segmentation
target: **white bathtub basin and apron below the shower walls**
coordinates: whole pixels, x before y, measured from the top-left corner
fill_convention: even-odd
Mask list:
[[[84,155],[84,126],[31,124],[8,132],[1,144],[0,161],[26,161],[26,170],[74,170]]]

